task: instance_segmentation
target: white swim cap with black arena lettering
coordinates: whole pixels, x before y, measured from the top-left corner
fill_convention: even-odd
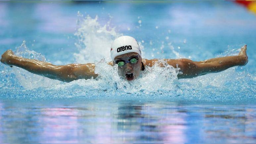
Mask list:
[[[141,56],[139,45],[135,38],[131,36],[120,36],[114,40],[110,48],[110,56],[112,61],[116,56],[136,52]]]

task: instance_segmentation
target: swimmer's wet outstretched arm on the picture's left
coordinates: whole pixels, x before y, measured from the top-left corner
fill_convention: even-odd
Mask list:
[[[11,67],[20,67],[31,73],[65,82],[71,82],[77,79],[96,78],[98,76],[98,74],[94,73],[94,64],[56,66],[47,62],[16,56],[11,50],[7,50],[2,55],[1,62]]]

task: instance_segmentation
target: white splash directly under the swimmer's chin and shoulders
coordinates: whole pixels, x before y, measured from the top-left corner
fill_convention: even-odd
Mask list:
[[[164,65],[165,67],[161,67]],[[145,70],[141,73],[139,78],[133,81],[127,81],[120,78],[117,73],[117,65],[112,69],[108,67],[103,69],[104,66],[96,67],[96,72],[99,72],[102,78],[102,82],[107,81],[115,86],[116,89],[124,91],[126,93],[150,93],[162,90],[172,90],[173,81],[177,79],[179,68],[175,69],[168,65],[165,61],[159,60],[158,64],[153,67],[145,67]],[[106,66],[105,66],[106,67]],[[165,83],[163,85],[163,83]]]

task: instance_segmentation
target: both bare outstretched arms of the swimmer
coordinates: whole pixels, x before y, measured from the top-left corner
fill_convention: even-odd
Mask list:
[[[246,45],[241,48],[241,51],[236,56],[227,56],[213,58],[205,61],[195,62],[189,59],[164,59],[167,64],[176,67],[179,65],[180,72],[178,78],[193,78],[207,73],[221,72],[233,66],[244,66],[248,62],[246,55]],[[70,82],[77,79],[96,78],[98,74],[95,71],[95,64],[69,64],[56,66],[47,62],[38,60],[26,59],[13,54],[11,50],[7,50],[1,58],[3,64],[9,66],[17,66],[51,79],[58,79],[65,82]],[[152,67],[158,59],[147,60],[143,59],[145,66]],[[108,63],[112,65],[112,62]]]

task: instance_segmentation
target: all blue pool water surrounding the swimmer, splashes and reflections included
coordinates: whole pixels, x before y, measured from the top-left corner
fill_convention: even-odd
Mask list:
[[[255,25],[228,1],[0,2],[1,54],[95,63],[101,75],[66,83],[1,64],[0,142],[256,142]],[[129,83],[106,65],[121,35],[146,59],[201,61],[247,44],[249,62],[180,80],[155,66]]]

